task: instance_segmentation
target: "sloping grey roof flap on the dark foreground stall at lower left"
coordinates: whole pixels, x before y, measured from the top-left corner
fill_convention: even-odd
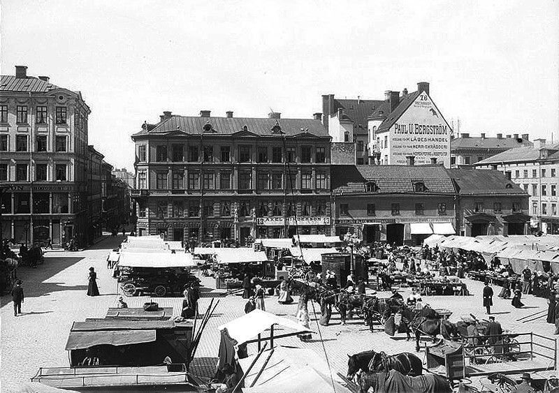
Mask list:
[[[101,332],[70,332],[66,341],[66,350],[85,349],[92,346],[108,344],[126,346],[136,343],[155,341],[155,330],[107,330]]]

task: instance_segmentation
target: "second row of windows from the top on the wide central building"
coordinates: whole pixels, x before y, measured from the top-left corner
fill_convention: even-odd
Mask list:
[[[231,184],[231,172],[219,172],[215,174],[214,172],[204,172],[202,175],[202,188],[205,190],[213,190],[217,188],[216,180],[219,176],[219,189],[230,190]],[[283,173],[282,172],[259,172],[256,178],[257,188],[262,190],[282,190],[283,188],[291,189],[290,180],[286,179],[284,185]],[[300,188],[303,190],[326,190],[328,189],[328,177],[325,173],[317,173],[316,175],[316,186],[313,186],[312,172],[301,173],[300,178]],[[156,174],[156,184],[155,187],[158,190],[168,189],[168,172],[157,172]],[[147,172],[138,172],[138,188],[147,189]],[[171,188],[173,189],[184,189],[184,171],[173,171],[172,172],[172,182]],[[197,190],[200,188],[200,173],[189,171],[186,188]],[[238,173],[238,189],[240,190],[251,190],[252,189],[252,172],[251,171],[240,171]]]

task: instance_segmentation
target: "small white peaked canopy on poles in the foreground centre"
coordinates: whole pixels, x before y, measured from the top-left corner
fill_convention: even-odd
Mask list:
[[[259,309],[253,310],[244,316],[231,320],[217,327],[219,330],[227,329],[228,335],[231,339],[237,341],[238,344],[245,343],[259,334],[266,332],[272,325],[280,325],[295,330],[293,334],[310,332],[302,325],[299,325],[294,320],[284,317],[276,316],[272,313],[262,311]]]

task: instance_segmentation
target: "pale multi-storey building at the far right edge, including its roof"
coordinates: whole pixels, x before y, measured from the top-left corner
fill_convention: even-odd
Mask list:
[[[559,234],[559,143],[534,140],[475,164],[476,168],[503,172],[530,194],[532,227]]]

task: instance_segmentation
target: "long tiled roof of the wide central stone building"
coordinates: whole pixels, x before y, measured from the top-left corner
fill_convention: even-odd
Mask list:
[[[286,136],[299,135],[309,133],[311,135],[330,138],[328,131],[319,120],[314,119],[269,119],[254,117],[194,117],[194,116],[176,116],[166,119],[157,124],[152,130],[142,130],[134,135],[150,135],[164,134],[171,131],[182,131],[184,133],[200,134],[203,126],[208,122],[212,125],[217,135],[231,135],[238,133],[247,126],[249,133],[256,135],[272,136],[272,128],[276,121],[282,127],[282,132]],[[148,128],[149,129],[149,128]],[[208,133],[212,135],[212,133]]]

